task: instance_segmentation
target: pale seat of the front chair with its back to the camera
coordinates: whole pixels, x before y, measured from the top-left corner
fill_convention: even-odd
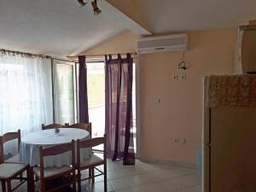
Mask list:
[[[40,178],[40,166],[35,167],[34,172]],[[47,167],[44,168],[44,177],[53,177],[62,172],[72,172],[73,168],[70,166],[61,166],[61,167]]]

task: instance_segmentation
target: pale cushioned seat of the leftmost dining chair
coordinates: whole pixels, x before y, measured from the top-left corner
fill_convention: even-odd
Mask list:
[[[26,170],[26,165],[16,163],[0,164],[0,178],[15,177],[20,172]]]

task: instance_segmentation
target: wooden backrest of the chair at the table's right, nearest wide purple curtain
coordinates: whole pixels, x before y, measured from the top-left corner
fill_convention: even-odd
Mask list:
[[[103,144],[103,158],[106,160],[106,135],[104,137],[96,137],[87,140],[77,141],[77,163],[80,164],[80,149],[81,148],[93,148],[97,145]]]

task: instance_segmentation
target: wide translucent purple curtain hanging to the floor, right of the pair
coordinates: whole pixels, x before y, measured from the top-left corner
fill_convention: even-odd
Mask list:
[[[106,135],[107,156],[123,159],[124,165],[135,164],[132,134],[132,64],[125,59],[106,55]]]

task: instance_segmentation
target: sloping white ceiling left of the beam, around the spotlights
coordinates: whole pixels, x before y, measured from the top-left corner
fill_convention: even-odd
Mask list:
[[[108,6],[100,1],[102,14],[93,15],[76,0],[0,0],[0,49],[78,54],[127,28]]]

